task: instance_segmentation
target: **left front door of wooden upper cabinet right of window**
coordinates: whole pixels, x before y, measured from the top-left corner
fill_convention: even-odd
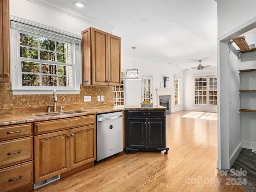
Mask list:
[[[108,33],[92,28],[92,85],[108,85]]]

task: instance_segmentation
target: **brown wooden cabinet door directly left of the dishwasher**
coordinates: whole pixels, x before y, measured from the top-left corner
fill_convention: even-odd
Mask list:
[[[70,168],[96,160],[96,125],[70,130]]]

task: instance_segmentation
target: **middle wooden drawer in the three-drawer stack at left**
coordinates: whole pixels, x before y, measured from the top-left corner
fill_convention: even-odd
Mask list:
[[[0,142],[0,168],[33,160],[33,137]]]

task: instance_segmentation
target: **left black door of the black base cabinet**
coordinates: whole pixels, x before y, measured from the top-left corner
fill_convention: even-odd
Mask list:
[[[146,119],[128,119],[128,148],[146,148],[146,132]]]

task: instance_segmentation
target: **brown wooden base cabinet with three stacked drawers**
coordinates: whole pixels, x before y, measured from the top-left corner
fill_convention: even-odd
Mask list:
[[[22,191],[34,183],[32,123],[1,126],[0,191]]]

